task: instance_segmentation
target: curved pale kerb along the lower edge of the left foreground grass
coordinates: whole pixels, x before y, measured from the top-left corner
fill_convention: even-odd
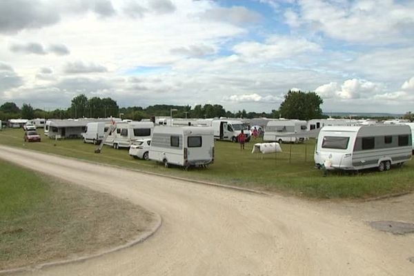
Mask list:
[[[82,257],[78,257],[78,258],[75,258],[75,259],[64,259],[64,260],[57,261],[57,262],[48,262],[48,263],[43,263],[43,264],[36,264],[36,265],[33,265],[33,266],[23,266],[21,268],[12,268],[12,269],[8,269],[8,270],[0,270],[0,275],[6,275],[6,274],[9,274],[9,273],[20,273],[20,272],[24,272],[24,271],[40,270],[42,268],[48,268],[48,267],[52,267],[52,266],[62,266],[62,265],[72,264],[72,263],[77,263],[77,262],[85,262],[88,259],[95,259],[95,258],[101,257],[103,255],[114,253],[116,251],[123,250],[123,249],[131,247],[131,246],[135,246],[136,244],[140,244],[141,242],[145,242],[146,239],[152,237],[152,235],[155,235],[155,233],[157,233],[157,230],[159,230],[159,228],[161,228],[161,225],[162,225],[161,216],[157,213],[153,213],[153,214],[155,216],[155,219],[154,219],[155,222],[154,222],[154,225],[152,226],[152,228],[150,230],[146,231],[145,233],[142,233],[141,235],[137,236],[135,239],[133,239],[132,241],[130,241],[126,244],[121,244],[120,246],[115,246],[113,248],[104,249],[101,252],[96,253],[96,254],[82,256]]]

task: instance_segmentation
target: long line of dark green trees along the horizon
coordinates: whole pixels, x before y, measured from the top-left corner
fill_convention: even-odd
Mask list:
[[[107,98],[91,97],[88,99],[86,95],[77,95],[71,101],[70,107],[66,109],[41,110],[34,109],[30,103],[23,103],[19,108],[13,102],[6,102],[0,106],[0,120],[7,119],[68,119],[68,118],[105,118],[105,117],[121,117],[122,119],[132,119],[139,121],[140,119],[150,118],[152,116],[170,116],[175,118],[213,118],[213,117],[235,117],[253,119],[257,117],[286,119],[309,120],[315,118],[326,118],[323,115],[321,105],[323,100],[315,92],[302,92],[289,90],[284,95],[284,101],[278,109],[271,112],[247,112],[246,110],[238,110],[230,112],[219,104],[204,104],[192,106],[176,106],[166,104],[156,104],[142,108],[141,106],[132,106],[119,108],[117,101]],[[413,121],[413,114],[407,112],[405,119]]]

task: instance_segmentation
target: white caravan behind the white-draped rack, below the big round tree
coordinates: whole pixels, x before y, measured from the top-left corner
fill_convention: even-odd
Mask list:
[[[301,120],[268,121],[266,128],[264,128],[263,141],[277,141],[279,144],[302,143],[308,137],[307,128],[307,122]]]

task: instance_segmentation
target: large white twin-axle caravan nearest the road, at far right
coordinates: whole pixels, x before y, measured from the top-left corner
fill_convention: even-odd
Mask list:
[[[315,146],[315,166],[327,170],[389,170],[412,156],[409,126],[324,126]]]

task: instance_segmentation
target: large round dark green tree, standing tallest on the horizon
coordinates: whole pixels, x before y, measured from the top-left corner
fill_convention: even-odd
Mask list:
[[[315,92],[288,91],[279,112],[286,119],[310,120],[322,117],[320,105],[324,102]]]

